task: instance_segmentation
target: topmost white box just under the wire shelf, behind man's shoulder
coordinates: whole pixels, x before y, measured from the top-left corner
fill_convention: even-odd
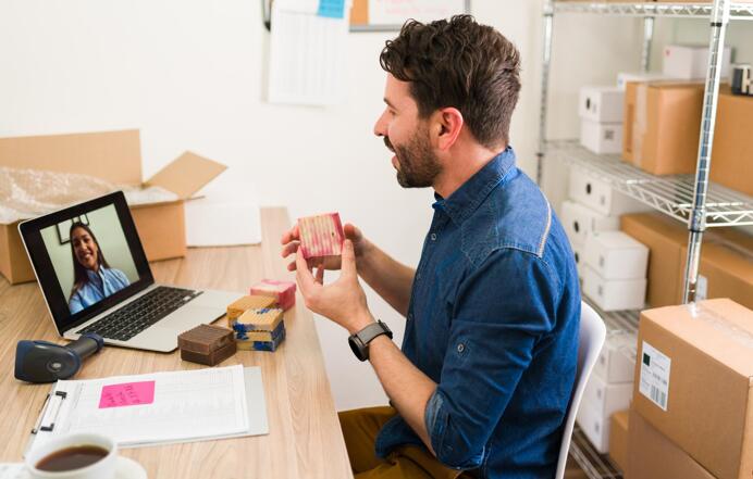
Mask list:
[[[615,190],[606,181],[593,178],[581,168],[570,168],[570,199],[584,204],[607,216],[619,216],[625,213],[651,211],[651,206],[633,200]]]

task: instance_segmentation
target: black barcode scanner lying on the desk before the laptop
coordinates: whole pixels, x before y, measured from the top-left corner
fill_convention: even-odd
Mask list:
[[[99,335],[86,333],[65,344],[18,341],[15,346],[15,378],[27,382],[54,382],[78,373],[82,362],[104,345]]]

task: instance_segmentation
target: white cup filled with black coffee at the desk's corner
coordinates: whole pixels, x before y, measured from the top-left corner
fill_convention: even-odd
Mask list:
[[[37,464],[45,457],[69,448],[82,445],[95,445],[108,452],[106,456],[88,466],[71,470],[40,470]],[[115,463],[118,461],[118,443],[102,434],[79,432],[61,438],[51,439],[48,442],[33,448],[26,454],[26,470],[34,479],[113,479],[115,477]]]

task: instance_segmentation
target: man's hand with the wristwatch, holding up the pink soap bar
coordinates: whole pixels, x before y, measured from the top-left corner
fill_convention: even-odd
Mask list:
[[[323,286],[324,266],[317,268],[314,277],[300,251],[296,252],[296,280],[309,310],[329,317],[351,335],[374,322],[358,282],[353,241],[343,243],[341,274],[333,283]]]

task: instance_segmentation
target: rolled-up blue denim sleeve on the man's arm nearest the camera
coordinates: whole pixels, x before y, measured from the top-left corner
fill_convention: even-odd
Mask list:
[[[494,251],[462,282],[442,379],[424,415],[443,464],[481,465],[538,341],[554,328],[558,291],[550,266],[517,249]]]

